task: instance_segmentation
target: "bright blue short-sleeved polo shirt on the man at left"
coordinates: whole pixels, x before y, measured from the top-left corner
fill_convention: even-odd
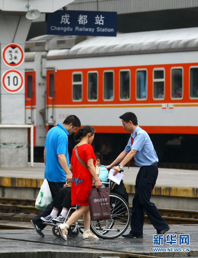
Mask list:
[[[69,167],[68,131],[62,124],[51,128],[46,135],[46,166],[44,178],[50,182],[65,182],[66,173],[62,169],[58,154],[64,154]]]

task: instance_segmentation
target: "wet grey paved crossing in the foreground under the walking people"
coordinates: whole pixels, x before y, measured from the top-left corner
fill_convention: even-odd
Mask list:
[[[79,257],[97,258],[101,256],[116,256],[121,258],[143,257],[143,255],[157,257],[198,257],[198,225],[171,225],[168,234],[177,234],[177,244],[166,244],[165,248],[186,248],[190,252],[153,252],[153,234],[156,230],[152,225],[145,225],[143,239],[125,239],[122,236],[110,240],[84,240],[82,234],[76,239],[64,241],[53,236],[51,230],[43,230],[45,237],[40,237],[34,230],[1,230],[0,257]],[[129,228],[126,232],[129,232]],[[179,234],[189,234],[189,246],[179,245]],[[167,235],[167,234],[166,234]]]

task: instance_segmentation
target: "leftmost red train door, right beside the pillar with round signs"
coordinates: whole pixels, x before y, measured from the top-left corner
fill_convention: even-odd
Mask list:
[[[34,124],[36,110],[36,72],[25,73],[25,123]]]

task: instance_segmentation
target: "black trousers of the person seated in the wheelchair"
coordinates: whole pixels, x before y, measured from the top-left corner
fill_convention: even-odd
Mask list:
[[[51,204],[59,210],[63,207],[69,210],[72,207],[71,187],[62,187]]]

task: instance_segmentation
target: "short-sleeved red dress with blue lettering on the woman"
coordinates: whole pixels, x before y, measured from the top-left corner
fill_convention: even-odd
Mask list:
[[[96,157],[93,151],[93,147],[86,143],[77,146],[78,156],[84,163],[87,164],[87,160],[92,158],[93,165],[95,166]],[[73,205],[89,205],[88,196],[89,191],[92,189],[92,175],[86,167],[84,167],[77,159],[75,150],[72,150],[71,165],[73,166],[72,177],[72,206]]]

